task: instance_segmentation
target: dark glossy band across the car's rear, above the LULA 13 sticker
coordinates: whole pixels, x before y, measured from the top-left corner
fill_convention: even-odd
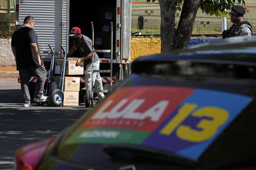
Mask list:
[[[204,76],[216,78],[255,79],[252,63],[217,63],[211,61],[143,61],[132,64],[132,72],[152,75]]]

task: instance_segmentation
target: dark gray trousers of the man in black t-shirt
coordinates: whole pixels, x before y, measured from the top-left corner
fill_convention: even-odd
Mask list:
[[[41,65],[40,67],[35,66],[29,69],[19,70],[23,103],[30,103],[29,81],[31,79],[32,73],[34,73],[37,77],[34,98],[40,98],[43,94],[44,83],[47,74],[44,65]]]

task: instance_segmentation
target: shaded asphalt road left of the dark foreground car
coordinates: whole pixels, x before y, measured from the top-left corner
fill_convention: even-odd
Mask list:
[[[0,169],[13,170],[15,150],[58,134],[89,108],[37,106],[23,108],[17,78],[0,78]]]

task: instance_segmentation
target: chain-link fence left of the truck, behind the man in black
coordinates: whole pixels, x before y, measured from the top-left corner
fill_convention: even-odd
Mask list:
[[[11,35],[15,31],[13,0],[0,0],[0,35]]]

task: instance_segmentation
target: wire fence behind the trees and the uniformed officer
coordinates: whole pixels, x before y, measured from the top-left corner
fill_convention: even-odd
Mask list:
[[[245,0],[245,20],[249,21],[256,30],[256,0]],[[181,6],[182,8],[182,6]],[[227,11],[230,12],[230,11]],[[176,11],[175,27],[179,23],[180,11]],[[144,16],[144,29],[142,35],[160,35],[161,15],[159,2],[151,1],[147,3],[146,0],[132,1],[132,32],[137,30],[138,16]],[[227,18],[227,28],[230,28],[233,23],[230,18]],[[222,18],[215,15],[209,16],[201,9],[198,10],[195,19],[192,35],[221,35],[222,33]]]

